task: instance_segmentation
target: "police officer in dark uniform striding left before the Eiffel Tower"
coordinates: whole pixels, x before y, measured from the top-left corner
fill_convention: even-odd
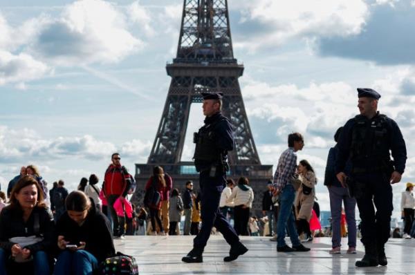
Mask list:
[[[202,93],[205,125],[194,133],[194,164],[200,173],[201,231],[193,240],[193,249],[183,257],[185,263],[203,262],[203,249],[208,242],[212,227],[216,227],[230,245],[225,262],[235,260],[248,249],[239,241],[237,233],[219,210],[221,192],[226,184],[228,151],[234,147],[232,124],[221,114],[222,93]]]

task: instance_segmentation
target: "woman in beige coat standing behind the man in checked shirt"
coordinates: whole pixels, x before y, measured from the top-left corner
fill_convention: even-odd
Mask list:
[[[298,164],[297,173],[302,184],[297,191],[295,200],[295,214],[297,216],[298,235],[303,232],[306,234],[306,241],[313,240],[310,231],[311,210],[313,210],[315,198],[315,184],[317,179],[313,167],[306,160],[302,160]]]

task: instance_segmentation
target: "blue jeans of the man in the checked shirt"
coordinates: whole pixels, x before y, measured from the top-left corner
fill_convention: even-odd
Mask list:
[[[284,247],[286,229],[290,235],[291,243],[295,247],[300,245],[297,229],[295,228],[295,218],[293,214],[293,203],[295,200],[295,190],[293,185],[287,184],[279,195],[279,215],[277,221],[277,247]]]

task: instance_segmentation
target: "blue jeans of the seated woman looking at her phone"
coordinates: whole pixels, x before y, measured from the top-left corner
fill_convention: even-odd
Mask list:
[[[91,275],[98,268],[98,260],[85,250],[71,252],[64,250],[57,257],[55,274],[59,275]]]

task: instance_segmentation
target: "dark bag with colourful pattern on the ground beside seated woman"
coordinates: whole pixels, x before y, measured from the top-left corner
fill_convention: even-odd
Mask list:
[[[102,275],[138,275],[136,258],[117,252],[116,256],[106,258],[97,274]]]

